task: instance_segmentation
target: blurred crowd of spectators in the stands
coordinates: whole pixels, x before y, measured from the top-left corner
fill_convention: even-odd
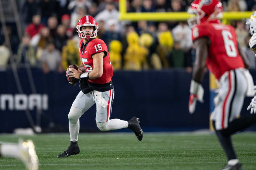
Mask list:
[[[186,12],[192,0],[126,0],[128,12]],[[223,0],[224,11],[254,11],[254,0]],[[187,22],[119,21],[118,0],[22,0],[19,7],[22,39],[8,26],[12,51],[0,33],[0,67],[10,64],[13,54],[18,67],[64,72],[68,65],[80,65],[76,32],[78,20],[91,15],[99,25],[98,38],[109,49],[114,70],[183,68],[192,71],[195,50]],[[256,69],[249,48],[245,21],[232,21],[237,39]]]

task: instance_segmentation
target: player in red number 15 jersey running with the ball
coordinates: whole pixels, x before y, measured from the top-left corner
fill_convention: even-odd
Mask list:
[[[129,121],[109,119],[114,99],[114,86],[111,81],[113,68],[109,58],[107,45],[97,36],[98,24],[89,15],[81,17],[76,26],[78,36],[81,37],[79,51],[81,65],[78,70],[67,68],[73,72],[69,77],[80,79],[80,93],[76,96],[68,114],[69,133],[71,143],[66,151],[57,157],[67,157],[80,153],[78,147],[79,118],[96,103],[96,123],[101,131],[129,128],[133,130],[141,141],[143,131],[138,118]]]

